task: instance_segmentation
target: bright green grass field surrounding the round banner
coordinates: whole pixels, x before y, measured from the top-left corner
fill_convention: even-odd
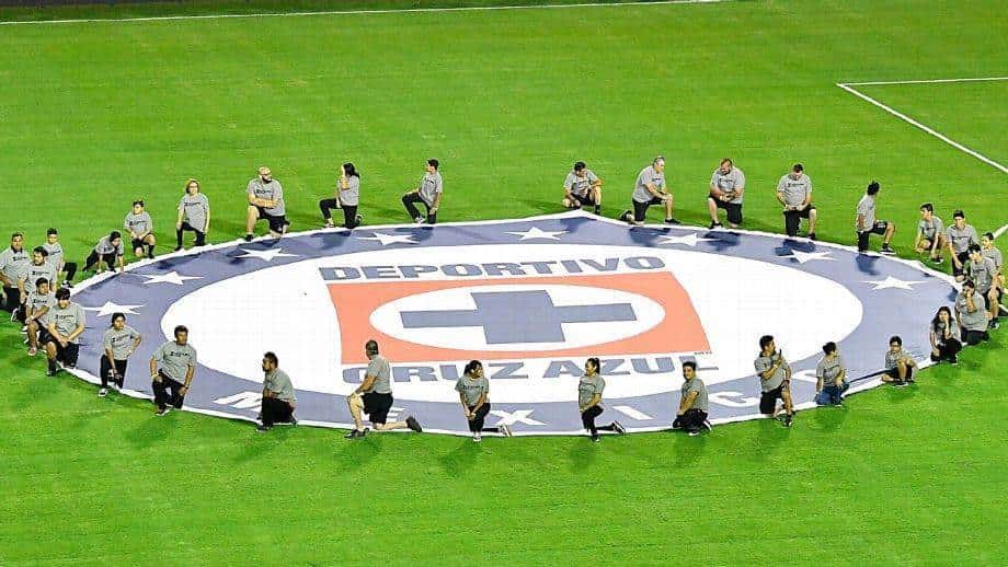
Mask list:
[[[415,3],[347,5],[365,4]],[[276,4],[221,10],[257,8]],[[801,161],[820,238],[844,243],[878,178],[880,213],[910,257],[924,200],[947,220],[966,209],[984,231],[1008,222],[1006,176],[835,83],[1008,74],[1003,8],[748,1],[2,25],[0,233],[35,245],[56,225],[81,259],[144,197],[169,243],[195,176],[214,207],[210,240],[231,240],[260,164],[306,230],[346,160],[363,172],[367,222],[400,222],[398,196],[428,157],[443,164],[439,220],[553,211],[575,159],[607,182],[615,216],[664,152],[681,220],[707,222],[710,172],[730,155],[748,180],[746,227],[772,231],[772,188]],[[187,10],[210,8],[0,16]],[[1006,88],[863,92],[1004,162]],[[3,323],[0,564],[1003,564],[1005,336],[916,389],[860,394],[791,429],[476,445],[153,419],[144,402],[44,378]]]

